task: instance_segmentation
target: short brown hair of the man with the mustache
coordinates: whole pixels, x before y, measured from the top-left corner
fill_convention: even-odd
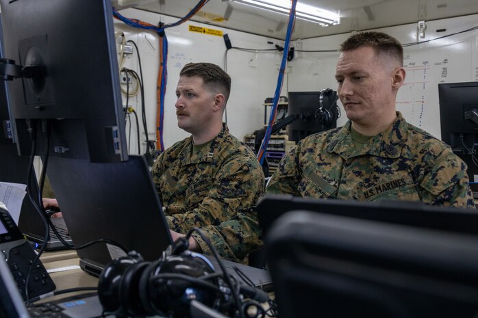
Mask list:
[[[222,68],[212,63],[188,63],[179,73],[179,76],[198,76],[203,79],[205,85],[218,89],[224,96],[225,101],[231,93],[231,77]]]

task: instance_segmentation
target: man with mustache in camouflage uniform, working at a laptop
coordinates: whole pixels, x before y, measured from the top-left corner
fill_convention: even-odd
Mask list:
[[[231,78],[219,66],[184,66],[175,107],[178,127],[191,136],[166,149],[152,174],[173,240],[197,226],[223,258],[246,263],[262,246],[255,204],[264,195],[264,173],[223,123],[230,90]],[[197,233],[189,249],[210,254]]]

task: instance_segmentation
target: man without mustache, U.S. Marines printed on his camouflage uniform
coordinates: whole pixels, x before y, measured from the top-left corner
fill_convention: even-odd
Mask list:
[[[340,51],[338,96],[349,121],[301,140],[281,161],[266,191],[474,207],[466,164],[395,109],[405,81],[400,42],[362,32],[345,40]]]

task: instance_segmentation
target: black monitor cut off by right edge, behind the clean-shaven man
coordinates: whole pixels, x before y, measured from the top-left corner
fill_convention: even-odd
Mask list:
[[[478,182],[478,81],[438,84],[438,96],[442,141],[468,165],[470,181]],[[478,191],[477,184],[470,187]]]

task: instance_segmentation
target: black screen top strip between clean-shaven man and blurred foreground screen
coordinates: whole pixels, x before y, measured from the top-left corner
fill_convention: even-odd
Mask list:
[[[267,195],[257,204],[257,218],[266,239],[277,218],[297,210],[478,235],[478,213],[475,209],[436,207],[410,201],[363,202]]]

